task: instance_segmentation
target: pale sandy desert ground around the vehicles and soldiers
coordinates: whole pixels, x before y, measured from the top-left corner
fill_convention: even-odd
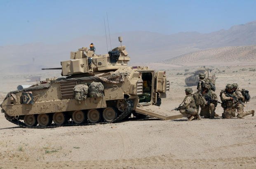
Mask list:
[[[162,100],[168,113],[185,96],[184,79],[176,75],[198,67],[167,68],[171,91]],[[237,82],[250,91],[245,110],[256,110],[256,71],[250,66],[215,66],[216,93]],[[160,69],[160,67],[159,67]],[[162,69],[162,67],[161,67]],[[245,70],[246,69],[246,70]],[[237,71],[237,72],[236,72]],[[42,79],[58,72],[33,74]],[[0,74],[0,102],[30,74]],[[192,87],[195,89],[196,87]],[[216,113],[221,115],[217,106]],[[5,168],[256,168],[255,116],[245,119],[155,118],[93,126],[24,129],[0,114],[0,169]]]

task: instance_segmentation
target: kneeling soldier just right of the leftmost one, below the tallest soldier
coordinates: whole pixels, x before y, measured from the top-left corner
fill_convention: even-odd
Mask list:
[[[206,92],[204,93],[204,91],[206,91]],[[214,91],[212,91],[210,89],[209,84],[204,84],[200,93],[202,94],[202,96],[204,96],[204,98],[209,97],[212,100],[218,101],[217,95],[214,93]],[[200,115],[202,114],[204,116],[204,118],[213,119],[215,116],[215,109],[216,109],[215,107],[216,107],[216,104],[209,101],[207,105],[200,106],[200,108],[201,108]]]

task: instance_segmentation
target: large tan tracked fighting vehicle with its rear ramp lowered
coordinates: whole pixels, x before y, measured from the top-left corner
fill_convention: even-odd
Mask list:
[[[155,111],[169,91],[164,71],[148,66],[127,66],[130,60],[122,37],[121,46],[106,55],[80,48],[61,62],[65,78],[11,91],[3,100],[8,121],[26,128],[110,123],[134,116],[167,120],[180,118]],[[56,69],[56,68],[54,68]]]

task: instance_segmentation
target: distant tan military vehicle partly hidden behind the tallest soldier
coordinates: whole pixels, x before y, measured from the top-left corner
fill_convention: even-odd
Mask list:
[[[210,72],[209,72],[207,69],[205,69],[205,68],[200,68],[200,69],[197,69],[197,71],[194,72],[194,75],[191,75],[191,76],[185,78],[185,83],[186,83],[186,85],[187,85],[187,86],[197,86],[197,84],[198,84],[198,82],[199,82],[199,77],[198,77],[198,75],[199,75],[200,73],[204,73],[204,74],[206,75],[206,78],[209,78],[209,79],[211,79],[211,80],[214,80],[214,82],[215,82],[215,80],[216,80],[215,75],[212,75],[212,76],[211,76]]]

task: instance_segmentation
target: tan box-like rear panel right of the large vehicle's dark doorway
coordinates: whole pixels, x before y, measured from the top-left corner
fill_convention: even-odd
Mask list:
[[[155,72],[154,81],[154,92],[165,93],[166,91],[170,90],[170,83],[166,79],[165,71]]]

